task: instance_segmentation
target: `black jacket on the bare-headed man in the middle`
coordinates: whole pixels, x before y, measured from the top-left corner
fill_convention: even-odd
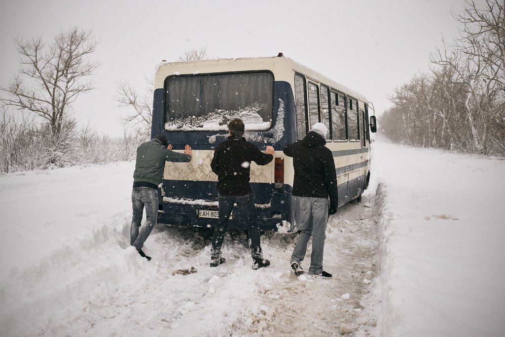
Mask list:
[[[251,161],[266,165],[274,158],[245,140],[229,136],[216,147],[211,161],[212,172],[218,175],[218,191],[222,195],[245,195],[251,192],[249,172]]]

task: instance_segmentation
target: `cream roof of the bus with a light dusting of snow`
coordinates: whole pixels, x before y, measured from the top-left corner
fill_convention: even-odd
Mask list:
[[[274,69],[276,66],[281,64],[285,67],[290,66],[290,68],[305,75],[309,79],[313,79],[322,84],[328,85],[333,89],[341,91],[353,98],[356,98],[362,102],[368,103],[368,99],[365,95],[361,94],[356,90],[352,90],[345,85],[336,82],[329,77],[306,67],[294,60],[282,57],[261,57],[261,58],[239,58],[239,59],[210,59],[210,60],[197,60],[197,61],[182,61],[182,62],[162,62],[156,67],[157,75],[164,75],[162,78],[155,79],[155,87],[163,87],[163,82],[165,78],[170,75],[180,75],[179,69],[184,69],[184,74],[198,74],[200,72],[207,73],[210,65],[218,65],[219,67],[227,67],[230,71],[236,70],[269,70]],[[183,66],[184,65],[184,66]],[[205,71],[201,71],[205,68]],[[212,68],[212,67],[211,67]],[[178,69],[177,71],[171,71],[172,69]]]

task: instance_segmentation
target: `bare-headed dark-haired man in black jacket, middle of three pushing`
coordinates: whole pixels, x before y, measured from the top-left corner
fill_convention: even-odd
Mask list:
[[[212,172],[218,176],[219,192],[219,222],[214,228],[212,237],[211,267],[226,262],[221,256],[221,246],[234,203],[240,208],[240,214],[247,223],[252,268],[258,269],[270,265],[270,261],[263,258],[261,249],[258,215],[250,194],[249,166],[251,161],[258,165],[268,164],[274,158],[274,148],[267,146],[266,153],[261,152],[256,145],[245,140],[244,129],[242,120],[236,118],[230,121],[228,123],[230,136],[216,147],[211,161]]]

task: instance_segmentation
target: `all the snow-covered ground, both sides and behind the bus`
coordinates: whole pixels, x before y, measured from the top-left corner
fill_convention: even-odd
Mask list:
[[[505,162],[372,145],[363,201],[330,217],[332,279],[293,275],[295,235],[262,236],[259,270],[240,231],[217,268],[205,229],[160,226],[141,258],[133,162],[0,176],[0,335],[503,335]]]

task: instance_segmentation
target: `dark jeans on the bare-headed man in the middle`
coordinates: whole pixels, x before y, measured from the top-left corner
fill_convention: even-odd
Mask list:
[[[252,258],[263,258],[260,228],[258,226],[258,214],[250,194],[219,195],[219,222],[214,228],[211,258],[221,257],[221,246],[223,245],[224,236],[226,234],[226,230],[228,229],[228,219],[231,211],[233,210],[234,203],[237,203],[240,215],[247,225],[246,228],[249,237],[247,241],[249,243]],[[236,216],[236,214],[234,216]]]

